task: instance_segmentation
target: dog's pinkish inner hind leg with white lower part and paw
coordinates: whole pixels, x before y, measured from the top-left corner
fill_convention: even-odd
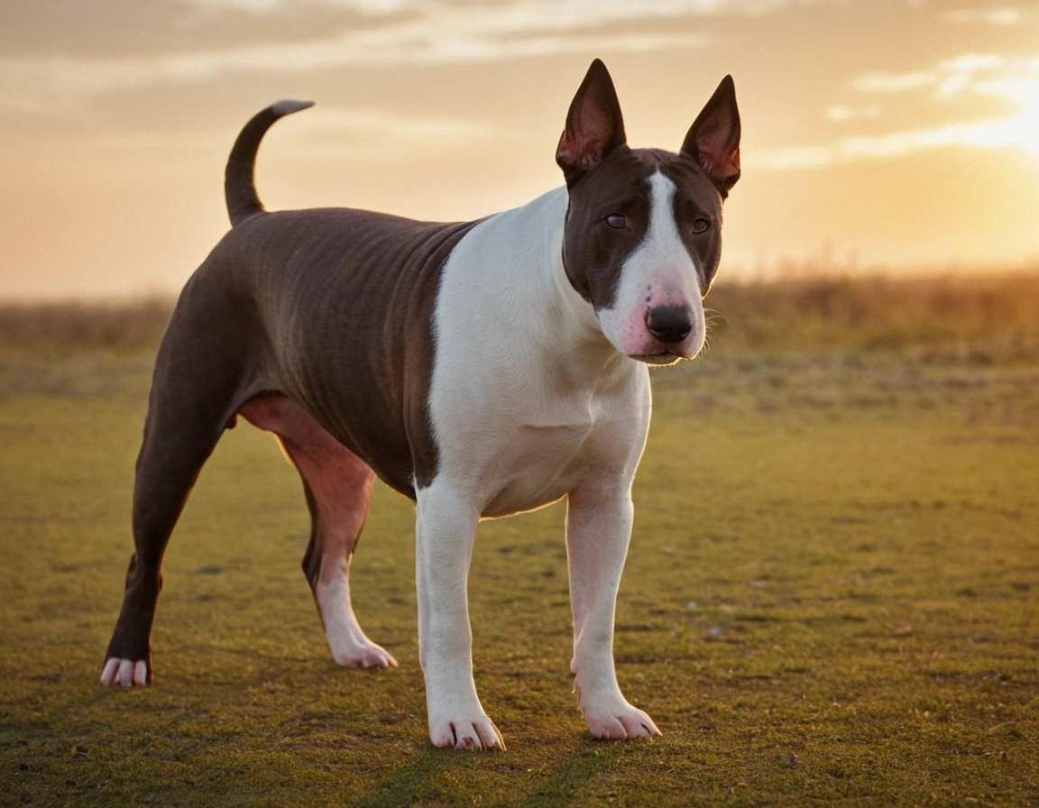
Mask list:
[[[311,512],[303,573],[332,658],[345,668],[397,667],[365,635],[350,602],[350,559],[368,516],[374,473],[285,396],[258,396],[239,411],[254,426],[277,435],[302,478]]]

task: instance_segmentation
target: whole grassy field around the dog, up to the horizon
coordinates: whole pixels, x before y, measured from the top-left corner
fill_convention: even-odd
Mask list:
[[[154,688],[98,682],[165,316],[0,311],[0,805],[1039,805],[1039,277],[721,287],[655,374],[618,675],[571,695],[561,506],[481,526],[476,680],[508,751],[436,750],[414,509],[378,488],[331,663],[273,440],[229,432],[174,535]]]

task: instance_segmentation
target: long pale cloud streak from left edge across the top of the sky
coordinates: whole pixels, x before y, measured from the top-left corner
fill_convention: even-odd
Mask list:
[[[296,7],[294,0],[292,7]],[[284,0],[182,0],[194,5],[289,7]],[[172,52],[151,57],[0,58],[0,105],[45,111],[106,92],[162,83],[212,80],[236,72],[307,72],[348,65],[498,62],[574,52],[656,52],[696,48],[702,34],[675,30],[616,31],[618,23],[657,21],[720,7],[746,11],[776,0],[516,0],[498,5],[446,5],[421,0],[302,0],[339,4],[380,17],[377,24],[303,42]],[[594,12],[591,12],[591,8]],[[407,11],[398,15],[394,12]]]

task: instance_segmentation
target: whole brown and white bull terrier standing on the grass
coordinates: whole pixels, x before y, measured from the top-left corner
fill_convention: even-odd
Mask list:
[[[556,151],[565,187],[478,221],[349,209],[268,213],[254,185],[281,101],[228,162],[232,230],[186,284],[159,348],[133,493],[135,553],[103,683],[150,684],[162,558],[199,469],[238,415],[302,478],[303,557],[335,661],[397,662],[350,604],[373,479],[416,503],[419,651],[437,747],[505,749],[476,693],[467,581],[477,522],[567,500],[570,670],[591,734],[659,735],[624,698],[614,608],[649,366],[696,356],[740,177],[726,76],[677,153],[627,145],[596,59]]]

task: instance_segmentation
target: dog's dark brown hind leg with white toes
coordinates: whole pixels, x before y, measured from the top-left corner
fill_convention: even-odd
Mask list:
[[[239,403],[247,357],[237,352],[240,342],[234,338],[243,324],[224,316],[222,331],[215,333],[207,328],[212,314],[179,306],[159,350],[134,481],[134,554],[105,654],[104,684],[152,682],[152,624],[166,544],[198,472]]]

